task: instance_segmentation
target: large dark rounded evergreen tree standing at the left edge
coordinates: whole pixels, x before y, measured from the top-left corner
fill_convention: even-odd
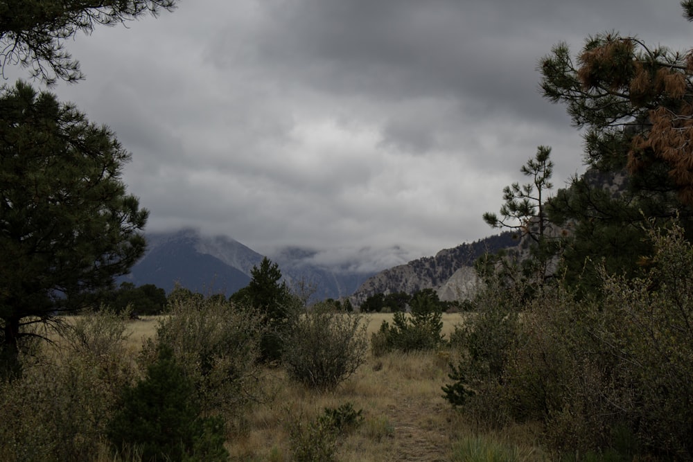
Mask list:
[[[0,368],[33,323],[93,301],[143,254],[148,211],[125,192],[130,153],[107,127],[22,82],[0,93]]]

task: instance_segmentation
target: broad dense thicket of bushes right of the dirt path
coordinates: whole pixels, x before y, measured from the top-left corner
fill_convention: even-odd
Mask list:
[[[597,265],[588,298],[561,281],[525,304],[486,290],[453,336],[446,398],[486,423],[541,422],[563,454],[693,459],[693,246],[675,225],[649,236],[640,276]]]

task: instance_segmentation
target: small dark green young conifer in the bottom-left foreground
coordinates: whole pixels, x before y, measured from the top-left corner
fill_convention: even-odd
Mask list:
[[[200,417],[194,383],[166,346],[159,349],[145,377],[123,390],[108,436],[117,448],[138,447],[146,461],[229,458],[224,421]]]

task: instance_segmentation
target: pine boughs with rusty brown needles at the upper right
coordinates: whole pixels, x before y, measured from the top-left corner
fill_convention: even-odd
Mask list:
[[[540,69],[544,96],[586,128],[590,167],[626,168],[642,195],[670,202],[674,193],[693,204],[692,53],[603,33],[588,38],[577,60],[565,44],[554,46]]]

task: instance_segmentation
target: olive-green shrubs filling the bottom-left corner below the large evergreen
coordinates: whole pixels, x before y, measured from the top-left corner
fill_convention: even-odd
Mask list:
[[[125,322],[107,310],[71,319],[58,348],[35,351],[21,377],[0,384],[0,460],[94,459],[134,377]]]

